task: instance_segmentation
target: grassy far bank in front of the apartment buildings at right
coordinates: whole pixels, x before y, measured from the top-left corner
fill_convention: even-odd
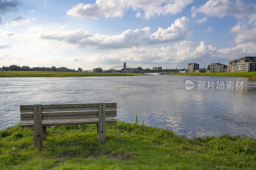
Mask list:
[[[208,76],[230,76],[230,77],[249,77],[251,80],[256,80],[256,72],[223,72],[223,73],[169,73],[167,75],[208,75]]]

